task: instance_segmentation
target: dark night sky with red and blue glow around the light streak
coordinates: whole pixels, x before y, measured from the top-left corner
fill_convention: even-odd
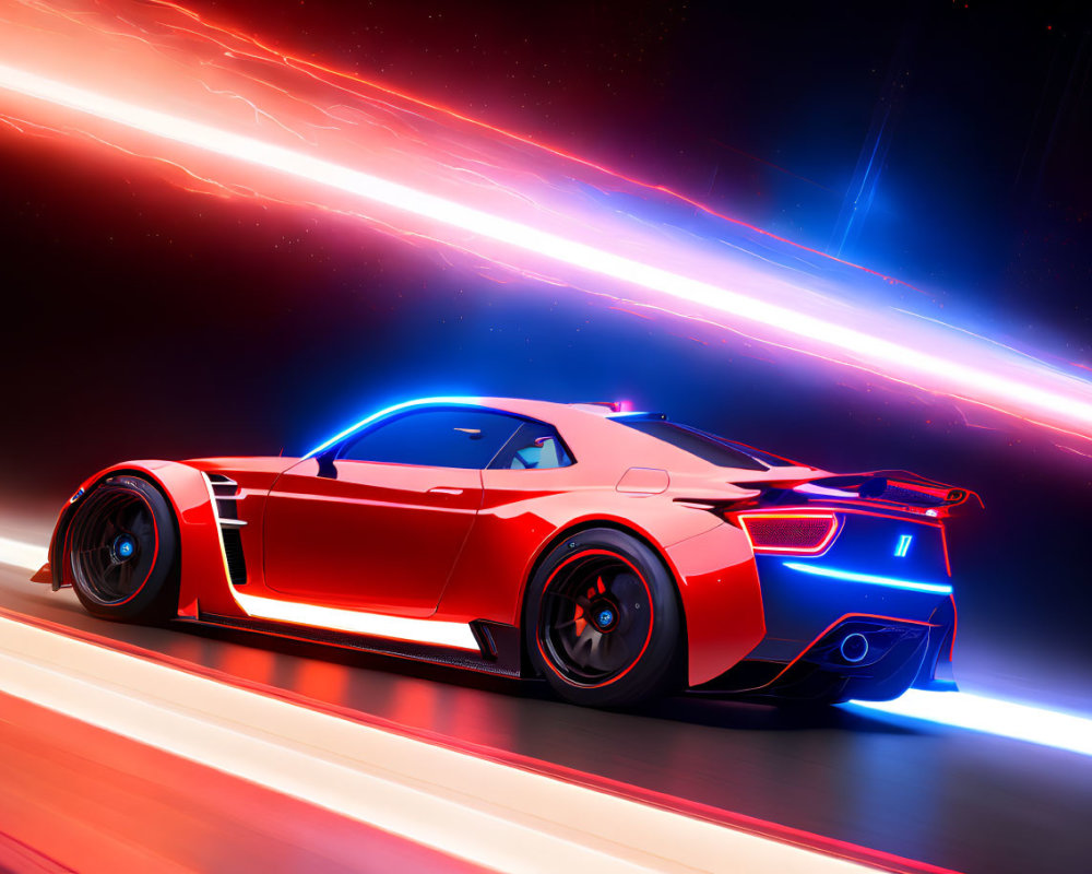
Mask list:
[[[843,253],[1092,366],[1092,15],[1077,4],[191,5],[818,248],[890,109]],[[1092,709],[1087,459],[69,149],[0,133],[0,497],[16,524],[123,458],[306,450],[415,394],[628,397],[823,466],[982,492],[987,513],[953,535],[958,668]]]

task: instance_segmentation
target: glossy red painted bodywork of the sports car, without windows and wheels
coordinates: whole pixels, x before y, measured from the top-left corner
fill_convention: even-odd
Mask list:
[[[522,629],[525,589],[543,557],[577,530],[613,527],[651,546],[675,579],[690,685],[723,674],[762,640],[755,551],[723,510],[753,499],[762,486],[791,487],[829,472],[719,468],[613,421],[606,406],[470,400],[553,425],[574,463],[466,470],[335,459],[330,476],[329,468],[320,475],[313,458],[136,461],[96,474],[83,488],[129,472],[164,492],[181,550],[178,614],[191,621],[247,619],[241,595],[253,595],[418,624]],[[230,581],[210,474],[236,484],[228,506],[246,563],[241,583]],[[52,551],[64,543],[72,507],[58,520]],[[890,515],[840,504],[785,509],[831,518],[835,511]],[[52,551],[52,567],[62,567]],[[305,629],[284,623],[275,630],[294,636]],[[480,664],[463,666],[491,670],[487,650],[483,645]]]

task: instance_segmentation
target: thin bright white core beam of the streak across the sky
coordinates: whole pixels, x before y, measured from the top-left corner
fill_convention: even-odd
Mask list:
[[[880,373],[895,378],[921,380],[930,390],[996,405],[1018,415],[1024,415],[1026,411],[1032,415],[1045,416],[1056,426],[1076,427],[1082,434],[1092,434],[1092,402],[1085,400],[1092,388],[1080,380],[1068,380],[1075,389],[1072,393],[1043,388],[604,251],[575,239],[310,154],[119,101],[26,70],[0,66],[0,88],[68,107],[171,142],[305,179],[610,280],[708,307],[828,350],[839,350],[852,361]],[[1014,411],[1011,410],[1013,405],[1018,408]]]

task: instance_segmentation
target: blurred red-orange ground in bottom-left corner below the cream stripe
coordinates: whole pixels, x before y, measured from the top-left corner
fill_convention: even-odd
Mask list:
[[[480,870],[8,695],[0,713],[4,871]]]

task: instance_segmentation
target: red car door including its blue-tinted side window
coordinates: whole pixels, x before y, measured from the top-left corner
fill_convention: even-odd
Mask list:
[[[482,505],[482,470],[520,424],[473,406],[415,410],[288,469],[265,510],[266,584],[323,605],[431,614]]]

